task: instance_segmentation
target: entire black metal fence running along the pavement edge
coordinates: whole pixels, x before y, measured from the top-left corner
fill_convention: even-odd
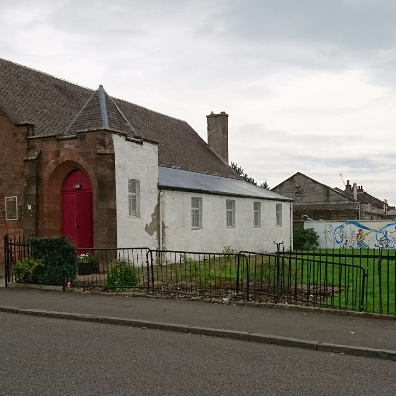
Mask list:
[[[6,285],[15,281],[12,268],[30,254],[28,243],[6,236]],[[286,252],[277,244],[275,253],[87,248],[75,255],[73,286],[396,314],[393,250]]]

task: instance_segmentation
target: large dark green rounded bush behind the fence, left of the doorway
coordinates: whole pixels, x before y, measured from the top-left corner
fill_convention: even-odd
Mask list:
[[[77,272],[77,252],[66,237],[31,238],[32,257],[43,259],[44,270],[39,283],[65,285],[72,281]]]

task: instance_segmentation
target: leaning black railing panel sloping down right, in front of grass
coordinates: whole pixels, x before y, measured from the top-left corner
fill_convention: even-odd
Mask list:
[[[243,252],[250,266],[251,298],[273,303],[363,310],[366,270],[307,252]]]

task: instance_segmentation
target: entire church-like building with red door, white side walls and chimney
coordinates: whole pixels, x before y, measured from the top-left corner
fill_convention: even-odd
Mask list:
[[[221,251],[291,241],[291,201],[228,166],[185,121],[0,59],[0,233],[78,247]],[[0,251],[0,257],[3,254]]]

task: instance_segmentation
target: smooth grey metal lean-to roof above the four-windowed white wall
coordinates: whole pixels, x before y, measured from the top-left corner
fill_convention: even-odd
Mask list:
[[[238,197],[293,201],[293,199],[274,193],[273,191],[257,187],[245,180],[206,175],[182,169],[160,166],[160,188],[168,190],[192,191],[209,194],[221,194]]]

